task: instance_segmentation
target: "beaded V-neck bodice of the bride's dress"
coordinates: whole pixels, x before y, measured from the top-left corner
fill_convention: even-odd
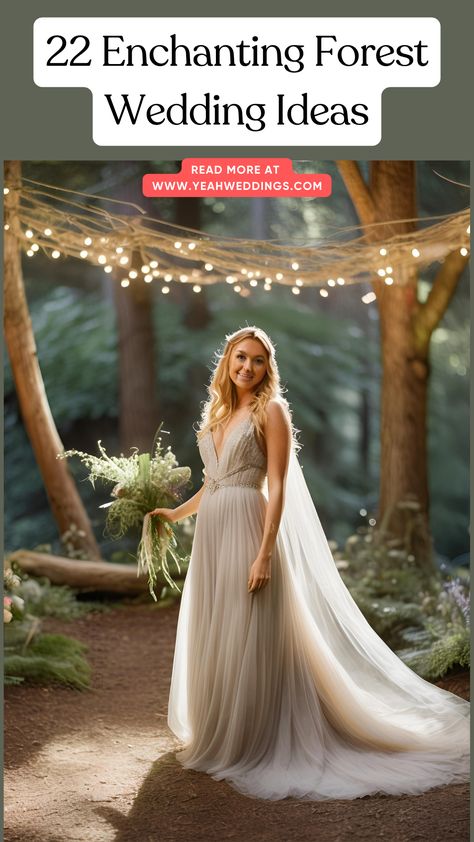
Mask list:
[[[267,460],[255,437],[251,417],[231,429],[219,456],[210,432],[199,440],[198,446],[204,463],[205,485],[211,494],[226,486],[263,487]]]

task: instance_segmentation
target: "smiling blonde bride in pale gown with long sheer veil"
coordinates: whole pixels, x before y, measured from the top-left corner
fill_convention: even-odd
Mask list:
[[[182,765],[265,799],[468,780],[469,704],[410,670],[345,587],[259,328],[227,337],[198,446],[200,490],[153,512],[199,512],[168,709]]]

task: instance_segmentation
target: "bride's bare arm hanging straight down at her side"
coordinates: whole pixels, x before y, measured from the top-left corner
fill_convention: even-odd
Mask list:
[[[285,408],[271,401],[265,424],[267,446],[268,505],[262,543],[250,568],[248,589],[260,590],[270,579],[271,555],[280,525],[285,500],[285,481],[291,448],[291,427]]]

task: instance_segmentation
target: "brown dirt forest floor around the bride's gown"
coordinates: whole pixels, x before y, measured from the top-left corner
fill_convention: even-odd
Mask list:
[[[178,607],[120,605],[43,630],[86,643],[85,692],[11,686],[6,842],[464,842],[467,784],[417,796],[265,802],[185,770],[166,724]],[[468,698],[467,673],[440,682]]]

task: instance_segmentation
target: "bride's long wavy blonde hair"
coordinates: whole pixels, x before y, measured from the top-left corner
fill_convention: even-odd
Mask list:
[[[263,439],[265,427],[266,407],[269,401],[280,401],[288,412],[291,423],[291,412],[288,401],[283,397],[280,374],[275,357],[275,346],[268,334],[255,325],[244,327],[229,333],[226,344],[221,353],[217,353],[217,361],[208,386],[209,398],[204,404],[198,438],[204,436],[220,424],[226,424],[237,406],[237,392],[229,376],[229,361],[233,349],[242,339],[257,339],[265,350],[267,370],[261,383],[254,392],[250,403],[250,412],[259,438]],[[295,439],[292,426],[292,436]]]

